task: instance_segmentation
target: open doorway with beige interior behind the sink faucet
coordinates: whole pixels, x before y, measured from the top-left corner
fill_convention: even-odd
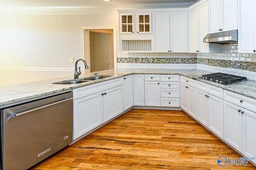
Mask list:
[[[114,28],[96,29],[82,27],[82,53],[89,69],[84,73],[113,69],[116,62],[114,54]]]

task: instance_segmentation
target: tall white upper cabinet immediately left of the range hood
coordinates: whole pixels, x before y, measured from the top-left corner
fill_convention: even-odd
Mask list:
[[[190,53],[220,53],[220,44],[203,42],[209,33],[207,1],[200,1],[189,8],[188,24]]]

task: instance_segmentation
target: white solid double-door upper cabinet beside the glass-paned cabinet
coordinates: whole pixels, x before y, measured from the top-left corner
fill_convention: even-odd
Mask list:
[[[155,12],[154,52],[188,52],[188,13]]]

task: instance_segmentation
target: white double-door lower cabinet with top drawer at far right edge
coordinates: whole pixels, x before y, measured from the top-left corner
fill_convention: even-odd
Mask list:
[[[256,157],[255,108],[256,99],[224,90],[224,140],[248,158]]]

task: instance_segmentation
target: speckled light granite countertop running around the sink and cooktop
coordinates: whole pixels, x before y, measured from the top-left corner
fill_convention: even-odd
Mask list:
[[[200,78],[203,74],[210,74],[212,72],[207,72],[203,70],[188,70],[188,69],[129,69],[129,68],[118,68],[112,70],[100,71],[98,75],[108,75],[110,77],[102,78],[99,80],[93,80],[89,82],[79,83],[79,84],[52,84],[54,82],[61,82],[64,80],[72,80],[73,76],[67,76],[62,78],[54,78],[49,80],[42,80],[37,82],[29,82],[24,84],[16,84],[12,86],[2,86],[0,87],[0,108],[5,107],[6,105],[14,104],[16,102],[22,102],[25,100],[31,100],[33,98],[38,98],[41,96],[51,95],[58,92],[71,90],[74,88],[95,84],[98,82],[111,80],[114,78],[127,76],[130,74],[179,74],[199,80],[214,86],[218,86],[225,90],[236,92],[244,96],[248,96],[256,99],[256,81],[247,80],[245,82],[239,82],[230,85],[222,85]],[[93,76],[93,73],[90,74],[81,74],[79,79]]]

